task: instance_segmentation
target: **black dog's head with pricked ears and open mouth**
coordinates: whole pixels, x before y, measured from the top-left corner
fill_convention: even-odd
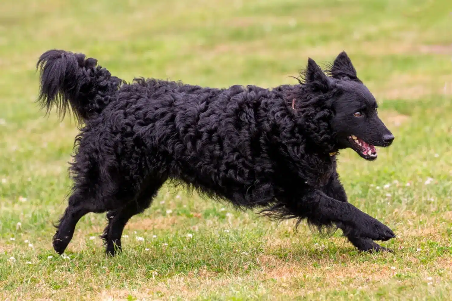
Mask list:
[[[377,114],[377,102],[358,79],[350,58],[342,52],[325,73],[309,59],[306,84],[323,95],[321,106],[330,111],[329,125],[337,149],[352,148],[366,160],[375,160],[375,146],[391,145],[394,136]]]

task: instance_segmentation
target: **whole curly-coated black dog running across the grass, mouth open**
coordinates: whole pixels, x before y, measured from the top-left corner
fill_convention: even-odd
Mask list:
[[[367,160],[394,136],[345,52],[328,75],[309,59],[297,85],[273,89],[202,88],[156,79],[128,84],[97,60],[61,50],[40,57],[39,101],[84,124],[75,139],[69,206],[53,247],[62,254],[75,225],[107,211],[107,252],[121,248],[127,221],[151,204],[170,180],[238,208],[261,208],[278,220],[307,219],[339,227],[359,250],[390,228],[347,202],[336,172],[339,149]]]

